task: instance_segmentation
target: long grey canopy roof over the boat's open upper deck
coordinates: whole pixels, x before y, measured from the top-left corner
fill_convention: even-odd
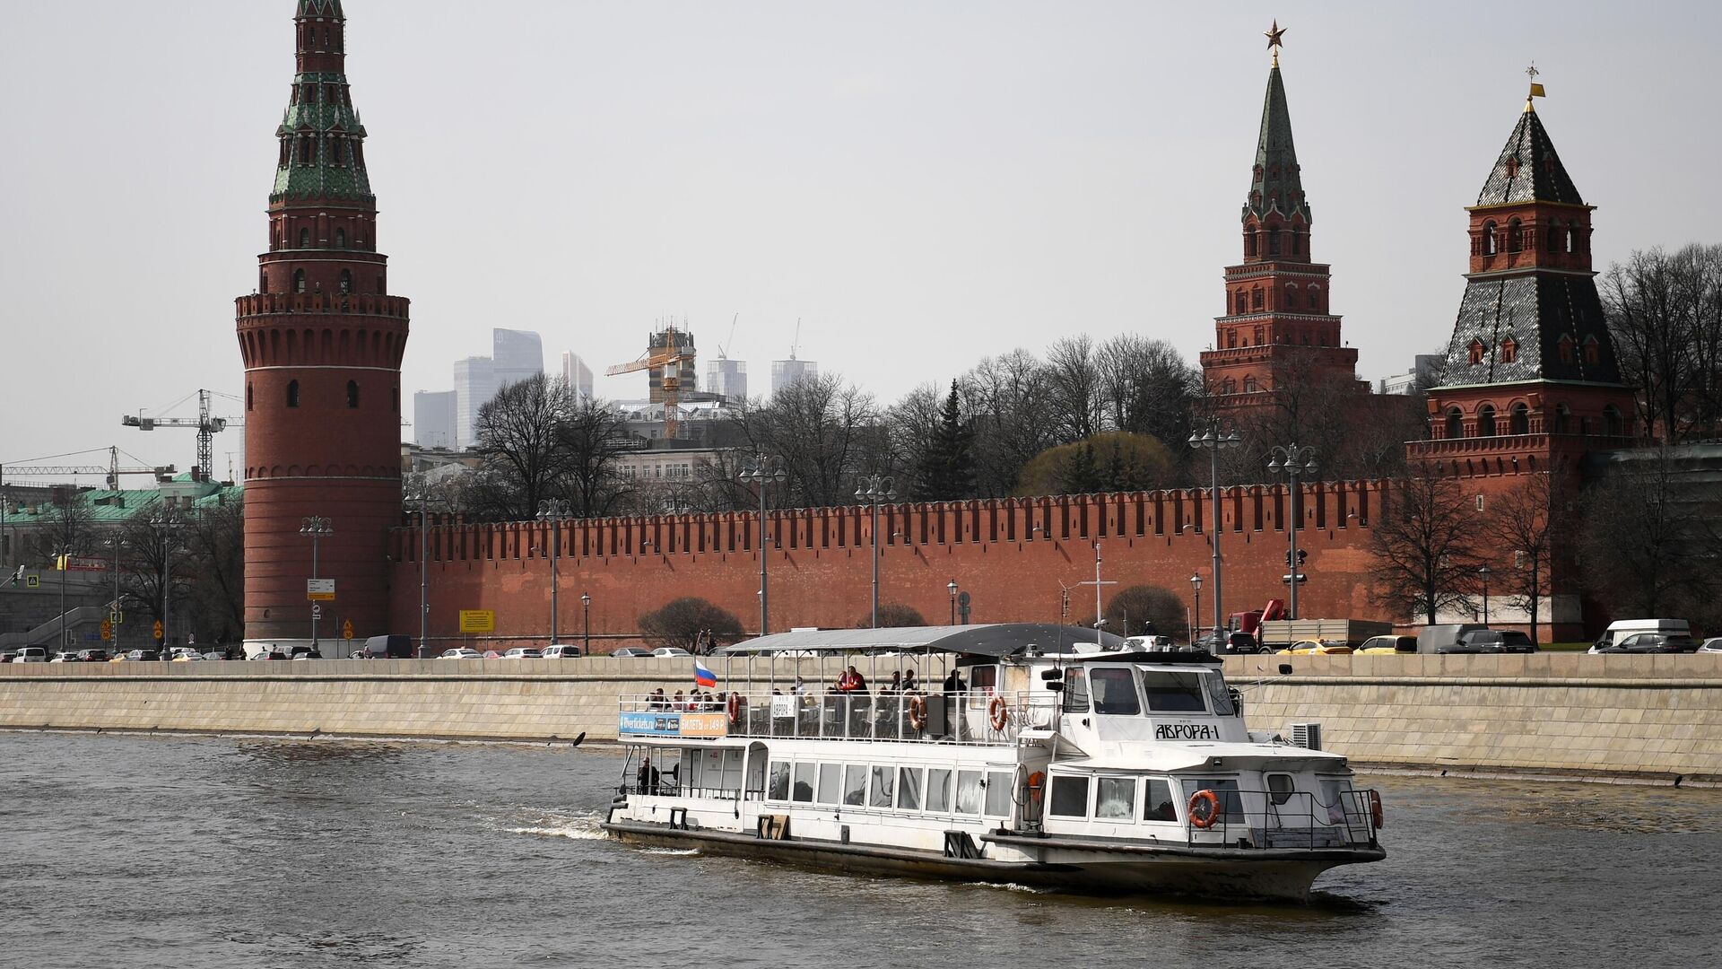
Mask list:
[[[916,652],[1011,657],[1075,653],[1076,645],[1123,650],[1123,636],[1059,626],[1057,622],[983,622],[976,626],[894,626],[887,629],[794,629],[744,640],[723,652],[730,655],[804,652]],[[1116,655],[1116,653],[1107,653]]]

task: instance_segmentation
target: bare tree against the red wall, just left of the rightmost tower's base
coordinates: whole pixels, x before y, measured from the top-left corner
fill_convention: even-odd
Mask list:
[[[1369,600],[1433,624],[1443,609],[1471,609],[1479,528],[1459,481],[1417,467],[1391,491],[1369,531],[1374,583]]]

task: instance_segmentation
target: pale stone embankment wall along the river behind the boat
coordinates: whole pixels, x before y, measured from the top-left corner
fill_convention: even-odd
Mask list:
[[[1722,783],[1722,655],[1231,657],[1226,672],[1252,729],[1317,722],[1359,766]],[[691,688],[692,660],[7,664],[0,728],[610,740],[616,698],[660,686]]]

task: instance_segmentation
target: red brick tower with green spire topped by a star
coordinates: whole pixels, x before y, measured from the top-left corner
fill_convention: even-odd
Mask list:
[[[1357,379],[1357,350],[1340,341],[1340,317],[1328,312],[1328,266],[1310,262],[1312,217],[1279,78],[1279,33],[1269,33],[1274,60],[1243,205],[1243,262],[1226,267],[1226,316],[1214,321],[1214,348],[1202,353],[1217,409],[1267,403],[1292,374],[1369,391]]]

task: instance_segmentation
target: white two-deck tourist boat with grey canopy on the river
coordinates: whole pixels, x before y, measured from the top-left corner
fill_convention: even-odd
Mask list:
[[[1379,795],[1345,757],[1247,731],[1207,653],[992,624],[778,633],[713,666],[709,700],[622,698],[611,836],[1226,900],[1307,900],[1322,871],[1386,857]],[[835,688],[849,669],[864,690]],[[913,691],[882,686],[892,671]]]

